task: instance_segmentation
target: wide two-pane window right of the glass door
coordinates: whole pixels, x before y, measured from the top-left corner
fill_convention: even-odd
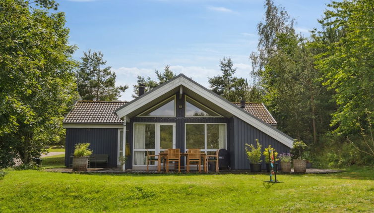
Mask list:
[[[226,124],[186,123],[186,149],[213,152],[226,148]]]

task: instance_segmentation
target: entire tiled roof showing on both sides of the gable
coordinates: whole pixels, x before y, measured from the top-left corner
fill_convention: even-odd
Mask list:
[[[123,123],[114,112],[126,102],[78,101],[63,119],[63,123]],[[240,103],[233,103],[240,107]],[[265,123],[277,122],[262,103],[246,103],[244,110]]]

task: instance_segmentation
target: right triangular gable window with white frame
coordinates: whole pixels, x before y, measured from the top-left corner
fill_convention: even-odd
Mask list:
[[[222,117],[206,106],[186,96],[186,117]]]

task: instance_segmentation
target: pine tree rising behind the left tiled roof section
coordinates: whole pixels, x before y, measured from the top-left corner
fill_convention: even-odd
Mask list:
[[[91,50],[83,53],[78,71],[78,92],[83,100],[116,101],[127,85],[116,87],[116,73],[107,63],[102,52]]]

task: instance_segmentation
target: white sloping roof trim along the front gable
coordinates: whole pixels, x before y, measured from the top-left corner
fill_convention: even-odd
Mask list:
[[[202,87],[201,85],[193,82],[183,74],[177,76],[176,78],[166,82],[165,84],[161,85],[159,88],[154,89],[151,93],[152,95],[144,94],[144,96],[135,99],[134,101],[127,103],[123,107],[116,110],[117,115],[122,118],[129,114],[130,112],[138,109],[139,107],[143,106],[144,103],[148,103],[154,101],[161,95],[165,94],[166,92],[183,85],[188,89],[194,91],[195,93],[199,94],[200,96],[204,97],[205,99],[209,100],[212,103],[219,103],[219,106],[227,110],[228,112],[232,113],[236,117],[242,119],[243,121],[247,122],[248,124],[254,126],[255,128],[259,129],[263,133],[269,135],[270,137],[278,140],[279,142],[283,143],[287,147],[292,147],[293,140],[287,136],[286,134],[282,133],[281,131],[277,130],[276,128],[266,124],[265,122],[261,121],[258,118],[255,118],[253,115],[246,112],[244,109],[225,101],[222,97],[218,95],[212,94],[211,91],[207,90],[206,88]]]

